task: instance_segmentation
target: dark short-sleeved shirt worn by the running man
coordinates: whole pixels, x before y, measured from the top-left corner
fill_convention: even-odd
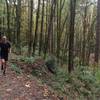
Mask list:
[[[9,53],[9,49],[10,49],[11,45],[9,42],[6,43],[0,43],[0,54],[1,56],[8,56]]]

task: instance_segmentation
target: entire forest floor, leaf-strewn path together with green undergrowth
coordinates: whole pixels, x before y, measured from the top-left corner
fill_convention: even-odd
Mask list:
[[[0,100],[100,100],[100,78],[81,69],[52,74],[44,59],[11,54],[6,76],[0,71]]]

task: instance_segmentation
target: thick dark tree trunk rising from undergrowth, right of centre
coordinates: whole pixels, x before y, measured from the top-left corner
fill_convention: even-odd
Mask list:
[[[75,9],[76,9],[76,0],[70,0],[69,62],[68,62],[69,73],[74,69],[73,60],[74,60]]]

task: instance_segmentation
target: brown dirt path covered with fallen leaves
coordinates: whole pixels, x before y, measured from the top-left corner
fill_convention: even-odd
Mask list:
[[[31,75],[19,75],[8,65],[6,76],[0,72],[0,100],[59,100],[46,85]]]

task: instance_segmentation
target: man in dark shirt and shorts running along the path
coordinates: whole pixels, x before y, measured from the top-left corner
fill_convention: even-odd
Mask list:
[[[10,52],[11,45],[7,40],[6,36],[2,37],[2,42],[0,43],[1,48],[1,64],[2,64],[2,70],[3,74],[5,75],[7,61],[8,61],[8,53]]]

